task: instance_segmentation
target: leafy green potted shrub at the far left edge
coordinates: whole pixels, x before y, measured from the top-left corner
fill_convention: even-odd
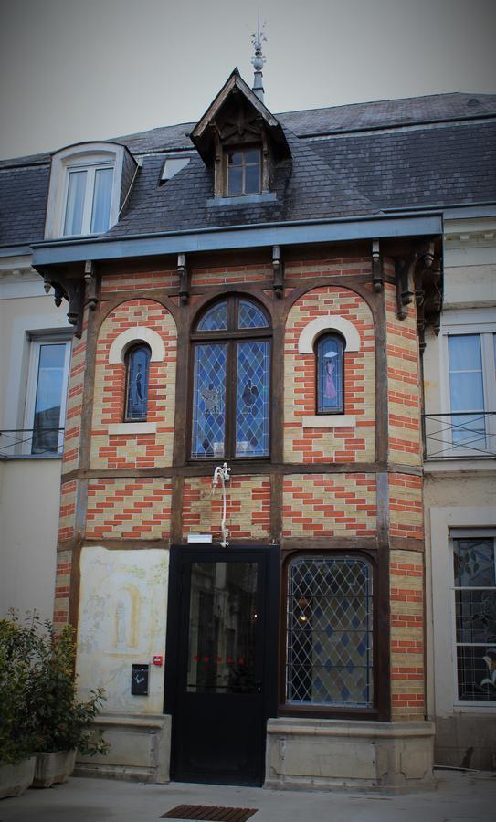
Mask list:
[[[36,642],[16,620],[0,619],[0,798],[19,796],[33,782],[36,737],[26,721],[26,694]]]

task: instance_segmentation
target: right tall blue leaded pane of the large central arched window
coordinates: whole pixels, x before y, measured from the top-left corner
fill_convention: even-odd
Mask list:
[[[236,456],[269,455],[269,342],[237,344]]]

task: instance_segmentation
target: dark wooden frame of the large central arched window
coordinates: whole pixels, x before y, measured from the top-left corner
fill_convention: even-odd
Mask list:
[[[239,302],[247,301],[255,305],[268,322],[265,328],[249,329],[237,328],[237,310]],[[199,323],[205,317],[207,311],[210,311],[220,302],[227,302],[227,330],[219,331],[196,331]],[[216,300],[212,300],[196,317],[194,323],[194,331],[190,334],[190,368],[189,368],[189,385],[188,385],[188,414],[187,414],[187,453],[188,462],[195,465],[207,462],[218,461],[219,459],[229,460],[230,462],[257,462],[260,460],[269,461],[271,454],[271,418],[272,418],[272,374],[273,374],[273,357],[274,346],[272,344],[272,325],[268,311],[251,296],[244,294],[228,294]],[[237,342],[269,342],[269,453],[263,456],[236,456],[236,386],[237,386]],[[193,418],[194,418],[194,402],[195,402],[195,348],[197,345],[205,344],[206,342],[223,342],[227,346],[226,354],[226,399],[225,399],[225,437],[224,437],[224,456],[214,455],[213,457],[194,457],[193,451]]]

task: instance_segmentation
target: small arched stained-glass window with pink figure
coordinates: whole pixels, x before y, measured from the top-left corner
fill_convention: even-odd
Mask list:
[[[317,413],[344,413],[343,337],[324,334],[316,346]]]

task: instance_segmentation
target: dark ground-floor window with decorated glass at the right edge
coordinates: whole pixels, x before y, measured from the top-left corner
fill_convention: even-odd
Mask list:
[[[460,700],[496,701],[494,537],[453,540],[455,635]]]

